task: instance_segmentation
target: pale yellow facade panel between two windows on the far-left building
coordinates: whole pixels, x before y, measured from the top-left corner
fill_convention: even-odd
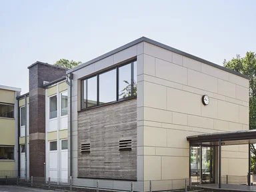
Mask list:
[[[0,118],[0,145],[15,145],[15,120]]]

